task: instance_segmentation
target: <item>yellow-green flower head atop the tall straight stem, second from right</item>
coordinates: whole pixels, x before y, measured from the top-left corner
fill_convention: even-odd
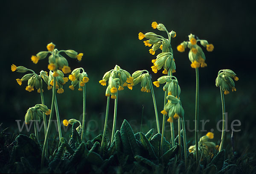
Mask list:
[[[206,67],[205,55],[202,48],[197,45],[197,42],[200,41],[200,44],[206,47],[207,51],[213,51],[214,46],[209,44],[207,40],[195,39],[194,34],[189,35],[189,41],[183,41],[180,45],[177,46],[179,52],[184,52],[185,48],[189,48],[189,60],[191,62],[192,68]]]

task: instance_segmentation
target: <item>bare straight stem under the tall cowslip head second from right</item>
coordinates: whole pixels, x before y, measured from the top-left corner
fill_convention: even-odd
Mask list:
[[[199,164],[199,156],[198,156],[199,73],[198,73],[198,68],[195,68],[195,76],[196,76],[196,90],[195,90],[195,157],[196,157],[197,164]]]

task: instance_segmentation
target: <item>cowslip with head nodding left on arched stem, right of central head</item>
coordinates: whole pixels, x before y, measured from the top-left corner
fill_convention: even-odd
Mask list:
[[[156,116],[156,123],[157,123],[157,132],[160,133],[160,126],[159,126],[159,119],[157,114],[157,103],[156,98],[154,95],[154,89],[151,81],[150,74],[147,70],[137,70],[132,75],[133,85],[137,85],[140,83],[141,92],[147,92],[152,94],[153,104],[154,104],[154,111]]]

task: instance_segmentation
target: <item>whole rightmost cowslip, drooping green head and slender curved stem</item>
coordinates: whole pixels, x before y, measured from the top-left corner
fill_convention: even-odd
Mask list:
[[[222,105],[222,133],[221,133],[221,144],[219,147],[219,151],[223,149],[224,139],[225,139],[225,125],[226,125],[226,112],[225,112],[225,101],[224,94],[229,94],[229,89],[231,88],[232,92],[236,91],[235,83],[233,81],[238,81],[239,78],[236,76],[232,70],[220,70],[218,72],[218,76],[216,78],[216,87],[220,87],[221,91],[221,105]],[[224,92],[223,92],[224,91]]]

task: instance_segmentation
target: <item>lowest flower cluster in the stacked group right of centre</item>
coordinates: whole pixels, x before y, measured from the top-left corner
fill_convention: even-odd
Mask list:
[[[164,106],[164,109],[161,111],[163,115],[167,115],[168,113],[168,122],[173,122],[172,118],[178,119],[179,117],[183,117],[184,109],[181,105],[181,101],[179,98],[176,98],[173,95],[168,95],[167,97],[167,104]]]

